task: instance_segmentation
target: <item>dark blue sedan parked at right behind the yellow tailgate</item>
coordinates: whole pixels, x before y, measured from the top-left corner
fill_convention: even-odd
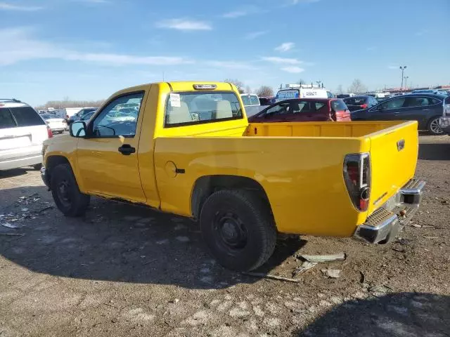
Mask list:
[[[378,103],[374,107],[352,112],[352,121],[418,121],[419,130],[441,135],[439,118],[444,112],[445,95],[416,93],[401,95]]]

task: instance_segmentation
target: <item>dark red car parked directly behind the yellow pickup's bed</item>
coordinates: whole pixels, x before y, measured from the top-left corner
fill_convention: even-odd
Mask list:
[[[351,121],[343,100],[337,98],[295,98],[283,100],[248,119],[252,123],[274,121]]]

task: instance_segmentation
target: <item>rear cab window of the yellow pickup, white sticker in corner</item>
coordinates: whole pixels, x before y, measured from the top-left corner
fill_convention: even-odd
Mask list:
[[[238,97],[233,92],[179,92],[167,97],[165,127],[242,118]]]

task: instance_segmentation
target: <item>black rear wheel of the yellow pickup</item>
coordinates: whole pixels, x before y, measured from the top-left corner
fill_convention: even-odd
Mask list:
[[[200,213],[200,230],[212,256],[231,270],[254,270],[274,253],[276,227],[269,206],[246,190],[211,194]]]

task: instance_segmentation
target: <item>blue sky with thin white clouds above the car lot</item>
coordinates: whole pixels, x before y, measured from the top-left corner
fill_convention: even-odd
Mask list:
[[[101,99],[152,81],[255,89],[450,84],[449,0],[0,0],[0,97]]]

